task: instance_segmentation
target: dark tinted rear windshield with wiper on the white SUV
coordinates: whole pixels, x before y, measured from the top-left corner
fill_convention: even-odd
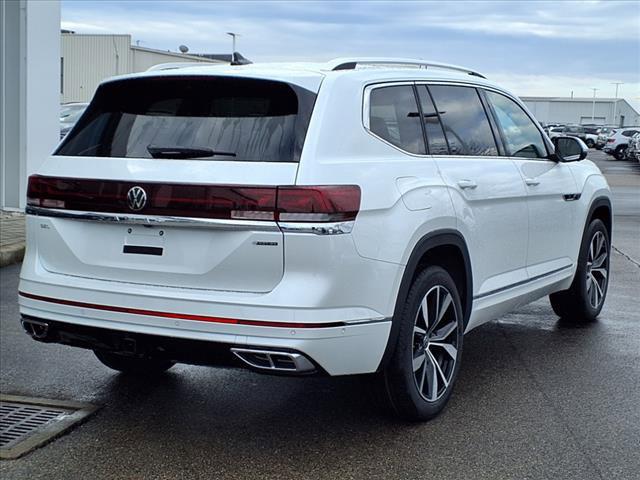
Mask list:
[[[109,82],[55,155],[297,162],[315,97],[247,78]]]

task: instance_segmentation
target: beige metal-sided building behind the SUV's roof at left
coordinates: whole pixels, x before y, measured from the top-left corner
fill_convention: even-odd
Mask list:
[[[228,63],[131,45],[131,35],[62,32],[60,102],[87,102],[105,78],[171,62]]]

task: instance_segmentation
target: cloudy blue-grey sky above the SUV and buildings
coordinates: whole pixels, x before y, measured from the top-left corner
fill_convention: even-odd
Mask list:
[[[640,2],[62,1],[62,28],[254,62],[402,56],[473,67],[518,95],[613,97],[640,107]]]

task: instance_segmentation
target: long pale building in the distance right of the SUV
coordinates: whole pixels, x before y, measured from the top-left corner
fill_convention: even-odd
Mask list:
[[[640,113],[622,98],[520,97],[542,123],[640,125]]]

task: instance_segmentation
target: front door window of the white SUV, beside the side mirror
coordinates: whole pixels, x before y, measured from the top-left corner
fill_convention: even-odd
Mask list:
[[[507,155],[545,158],[547,148],[542,135],[525,111],[504,95],[490,91],[486,91],[486,95],[496,113],[496,120],[506,143]]]

